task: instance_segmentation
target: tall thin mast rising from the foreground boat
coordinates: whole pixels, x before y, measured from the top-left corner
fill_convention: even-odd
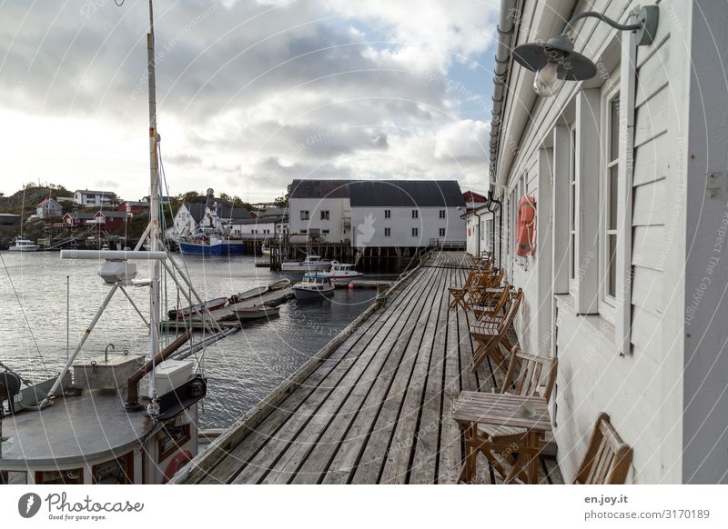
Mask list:
[[[151,240],[151,251],[159,250],[159,160],[157,158],[157,85],[155,80],[155,55],[154,55],[154,10],[152,0],[149,0],[149,33],[147,34],[147,75],[149,85],[149,179],[151,182],[149,200],[151,208],[149,212],[149,238]],[[158,260],[152,261],[152,281],[149,289],[149,328],[151,338],[151,349],[149,353],[152,359],[152,370],[154,360],[159,353],[159,278],[161,275]],[[154,375],[149,377],[149,396],[152,399],[150,414],[156,414],[157,389],[154,385]]]

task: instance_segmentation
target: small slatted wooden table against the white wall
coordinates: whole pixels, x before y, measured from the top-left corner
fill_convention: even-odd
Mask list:
[[[526,482],[538,483],[539,450],[541,437],[551,430],[551,419],[546,399],[536,396],[515,394],[496,394],[464,391],[460,393],[453,405],[452,418],[465,430],[465,464],[460,474],[462,481],[473,483],[476,474],[476,461],[479,447],[486,442],[478,434],[478,424],[494,424],[523,428],[525,446],[519,448],[519,454],[505,483],[512,483],[526,468]]]

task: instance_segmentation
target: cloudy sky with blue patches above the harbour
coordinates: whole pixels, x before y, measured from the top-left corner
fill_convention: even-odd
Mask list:
[[[116,0],[120,3],[121,0]],[[498,0],[157,0],[168,192],[487,188]],[[0,0],[0,191],[147,195],[147,0]]]

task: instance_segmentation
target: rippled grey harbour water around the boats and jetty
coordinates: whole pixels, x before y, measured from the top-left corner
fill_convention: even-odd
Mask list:
[[[3,252],[2,258],[5,266],[0,263],[0,361],[26,379],[38,382],[56,374],[66,360],[66,276],[71,352],[108,286],[96,275],[95,261],[61,260],[58,253]],[[199,294],[207,299],[269,284],[281,276],[292,281],[300,277],[256,268],[253,258],[248,256],[175,258],[187,268]],[[137,270],[137,278],[148,277],[146,264],[137,262]],[[129,287],[127,292],[147,314],[148,289]],[[203,367],[208,394],[202,424],[232,424],[363,312],[375,295],[376,290],[337,289],[330,302],[298,307],[284,304],[278,318],[244,324],[237,334],[207,347]],[[170,308],[177,304],[171,284],[167,299]],[[164,303],[163,300],[163,306]],[[120,292],[96,324],[83,354],[103,353],[106,344],[115,344],[117,353],[127,349],[148,354],[147,329]]]

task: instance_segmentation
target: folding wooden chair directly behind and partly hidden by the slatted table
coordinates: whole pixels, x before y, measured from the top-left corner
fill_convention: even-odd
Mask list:
[[[501,393],[541,396],[546,399],[547,403],[550,402],[553,385],[556,383],[558,364],[557,358],[526,354],[521,352],[518,347],[513,347]],[[529,433],[522,428],[492,424],[479,425],[480,444],[475,448],[485,455],[493,470],[501,474],[504,483],[512,483],[516,477],[525,483],[527,479],[521,470],[523,465],[528,464],[531,458],[540,455],[540,450],[534,451],[527,448],[527,434]],[[510,465],[508,472],[496,454],[500,454],[502,459]]]

